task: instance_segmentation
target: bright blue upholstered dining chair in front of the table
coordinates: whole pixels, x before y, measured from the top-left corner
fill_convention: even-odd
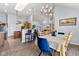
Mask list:
[[[49,47],[48,41],[46,38],[39,38],[37,40],[38,43],[38,47],[41,50],[39,56],[41,55],[41,53],[48,53],[50,56],[52,56],[52,52],[53,52],[53,48]]]

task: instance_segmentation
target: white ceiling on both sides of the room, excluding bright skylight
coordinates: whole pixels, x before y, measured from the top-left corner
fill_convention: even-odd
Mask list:
[[[42,5],[42,3],[39,3]],[[55,5],[69,7],[69,8],[77,8],[79,9],[79,3],[55,3]],[[4,3],[0,3],[0,13],[10,13],[16,15],[16,10],[14,9],[16,3],[9,3],[8,5],[4,5]],[[38,6],[38,3],[30,3],[28,4],[22,11],[18,12],[18,16],[27,16],[27,11],[32,9],[33,7]],[[7,10],[7,12],[6,12]]]

